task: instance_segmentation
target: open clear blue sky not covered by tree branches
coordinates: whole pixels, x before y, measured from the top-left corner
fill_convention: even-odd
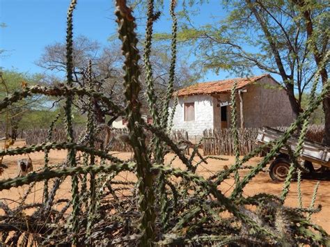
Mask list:
[[[40,58],[46,45],[63,42],[65,39],[66,11],[69,0],[0,0],[0,22],[6,28],[0,29],[0,49],[6,53],[1,57],[0,67],[17,69],[20,72],[45,72],[34,63]],[[164,0],[166,11],[156,24],[156,31],[171,30],[168,17],[168,0]],[[180,8],[180,6],[179,6]],[[199,13],[194,22],[203,25],[211,22],[212,16],[224,17],[219,0],[210,0],[203,6],[196,6]],[[107,39],[116,34],[111,0],[80,0],[74,12],[74,35],[86,35],[107,45]],[[143,32],[143,19],[139,19],[139,31]],[[180,56],[180,54],[179,54]],[[194,58],[190,58],[194,59]],[[226,72],[209,72],[202,81],[223,79]]]

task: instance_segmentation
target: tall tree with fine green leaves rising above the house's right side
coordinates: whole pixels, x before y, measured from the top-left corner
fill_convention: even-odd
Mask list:
[[[223,1],[223,8],[228,13],[225,19],[198,28],[189,19],[178,38],[194,47],[205,70],[251,74],[258,69],[278,75],[292,111],[299,115],[302,95],[329,49],[329,1],[233,0]],[[168,37],[157,35],[158,40]],[[321,77],[326,83],[327,67]],[[330,129],[329,97],[323,105],[326,129]],[[330,140],[330,130],[324,139]]]

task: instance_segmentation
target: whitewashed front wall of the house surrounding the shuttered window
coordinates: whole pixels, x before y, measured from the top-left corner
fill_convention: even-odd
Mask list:
[[[195,103],[195,120],[184,121],[184,103]],[[170,102],[171,112],[173,100]],[[201,136],[204,129],[213,128],[213,97],[209,95],[191,95],[179,97],[173,118],[173,129],[186,129],[189,138]]]

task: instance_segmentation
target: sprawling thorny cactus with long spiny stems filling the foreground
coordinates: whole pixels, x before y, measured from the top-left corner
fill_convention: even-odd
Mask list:
[[[221,157],[202,157],[197,143],[193,152],[187,157],[179,145],[191,145],[189,141],[175,143],[168,136],[172,126],[174,111],[168,113],[168,104],[173,96],[173,80],[176,58],[175,0],[171,1],[170,13],[173,19],[173,37],[171,42],[172,60],[166,98],[159,101],[153,89],[150,51],[152,45],[152,25],[160,13],[154,13],[154,1],[148,0],[146,25],[146,42],[143,61],[146,67],[146,84],[149,110],[154,119],[148,125],[141,118],[139,91],[140,68],[139,50],[135,34],[136,25],[132,10],[125,0],[116,1],[116,16],[119,38],[123,43],[125,56],[123,70],[125,76],[125,109],[113,104],[104,95],[95,92],[91,80],[91,64],[88,66],[88,88],[72,86],[72,15],[77,1],[72,0],[68,10],[67,30],[67,85],[42,87],[26,87],[0,101],[0,111],[15,102],[31,95],[65,96],[65,119],[68,140],[64,143],[52,143],[52,129],[49,129],[48,143],[31,145],[0,151],[0,157],[45,152],[45,166],[24,177],[10,178],[0,181],[0,191],[28,184],[24,196],[17,207],[0,202],[4,214],[0,216],[1,244],[6,245],[54,245],[77,244],[99,245],[219,245],[233,244],[244,246],[292,246],[299,244],[329,245],[329,236],[320,226],[311,222],[311,214],[320,212],[314,207],[317,186],[313,194],[311,206],[302,207],[299,185],[299,207],[285,207],[283,202],[288,195],[296,159],[306,134],[306,126],[311,113],[329,93],[329,81],[320,95],[315,97],[315,88],[320,70],[316,72],[315,83],[308,109],[292,123],[285,134],[270,143],[269,154],[255,167],[247,167],[248,174],[241,179],[238,170],[256,156],[265,145],[262,145],[242,159],[239,158],[237,130],[233,130],[235,139],[235,164],[221,170],[207,180],[196,174],[196,168],[207,164],[207,159]],[[327,59],[329,58],[329,54]],[[327,61],[323,61],[324,64]],[[89,76],[88,76],[89,75]],[[232,102],[235,103],[236,88],[232,90]],[[86,132],[77,143],[73,143],[71,105],[74,96],[87,97],[89,102]],[[96,149],[95,136],[102,129],[93,122],[93,100],[98,100],[105,108],[118,115],[126,114],[129,134],[127,142],[132,146],[134,158],[123,161],[109,154],[108,148]],[[174,97],[175,104],[178,100]],[[235,104],[233,104],[235,106]],[[173,108],[175,109],[175,108]],[[57,118],[56,118],[57,119]],[[233,111],[233,126],[236,113]],[[292,133],[302,125],[299,148],[292,153],[292,166],[288,179],[283,186],[281,197],[260,193],[244,197],[242,191],[251,179],[280,150]],[[146,143],[146,132],[152,134],[151,145]],[[111,144],[110,144],[111,145]],[[62,164],[50,164],[49,150],[68,150],[68,157]],[[171,150],[175,153],[185,170],[172,168],[175,157],[165,163],[164,156]],[[83,159],[77,155],[82,154]],[[194,161],[194,157],[199,161]],[[135,175],[136,180],[123,180],[120,173]],[[226,197],[219,185],[230,175],[235,175],[235,189]],[[72,177],[72,199],[58,198],[65,177]],[[79,177],[81,186],[79,186]],[[26,198],[33,192],[33,186],[44,182],[43,201],[27,203]],[[88,183],[89,182],[89,183]],[[299,177],[300,184],[300,177]],[[79,191],[80,189],[80,191]],[[251,207],[254,206],[254,207]],[[254,209],[251,209],[254,208]],[[33,209],[27,215],[25,210]],[[228,216],[223,217],[223,213]]]

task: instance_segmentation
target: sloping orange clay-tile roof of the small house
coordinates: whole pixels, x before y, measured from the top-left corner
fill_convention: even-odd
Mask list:
[[[237,89],[244,88],[245,86],[255,83],[256,81],[264,78],[270,77],[269,74],[261,74],[258,77],[246,77],[246,78],[234,78],[221,81],[209,81],[203,83],[196,83],[194,85],[188,86],[187,88],[182,88],[175,92],[177,96],[187,96],[187,95],[212,95],[217,93],[230,92],[233,88],[235,81],[237,81]]]

